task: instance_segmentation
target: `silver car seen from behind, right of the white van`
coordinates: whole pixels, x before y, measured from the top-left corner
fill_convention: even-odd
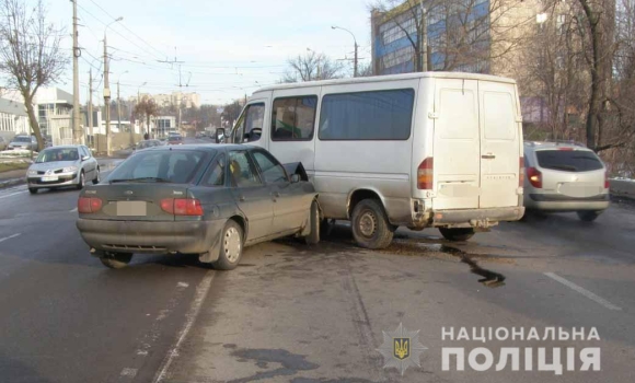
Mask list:
[[[524,207],[578,213],[593,221],[609,208],[609,179],[602,161],[582,144],[524,142]]]

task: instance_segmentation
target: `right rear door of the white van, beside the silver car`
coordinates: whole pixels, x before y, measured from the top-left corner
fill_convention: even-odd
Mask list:
[[[518,206],[521,118],[516,86],[478,81],[481,115],[480,208]]]

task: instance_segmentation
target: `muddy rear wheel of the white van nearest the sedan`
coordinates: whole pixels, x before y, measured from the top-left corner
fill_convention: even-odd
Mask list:
[[[392,225],[377,199],[363,199],[355,206],[350,227],[353,237],[360,247],[385,248],[392,242]]]

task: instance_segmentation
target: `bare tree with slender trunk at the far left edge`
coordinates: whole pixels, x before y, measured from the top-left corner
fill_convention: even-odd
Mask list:
[[[0,72],[24,97],[39,150],[44,140],[33,98],[41,86],[57,81],[66,68],[68,58],[61,51],[61,38],[62,30],[47,22],[42,0],[35,7],[22,0],[0,1]]]

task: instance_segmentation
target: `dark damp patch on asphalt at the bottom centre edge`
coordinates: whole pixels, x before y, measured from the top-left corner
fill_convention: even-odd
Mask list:
[[[256,372],[252,376],[235,379],[229,383],[246,383],[276,376],[289,376],[297,374],[298,371],[315,370],[320,367],[319,364],[307,361],[304,356],[291,353],[282,349],[240,349],[233,351],[231,355],[244,360],[254,360],[261,369],[266,368],[268,363],[279,363],[282,367],[272,371]]]

